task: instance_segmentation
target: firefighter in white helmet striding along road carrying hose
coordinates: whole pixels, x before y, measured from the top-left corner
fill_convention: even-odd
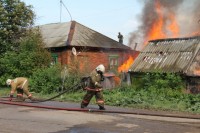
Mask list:
[[[90,100],[95,95],[96,103],[98,104],[99,109],[105,110],[101,85],[101,81],[104,80],[104,72],[105,67],[102,64],[97,66],[96,69],[91,72],[90,76],[88,77],[88,85],[84,88],[87,91],[87,93],[83,97],[83,100],[81,102],[81,108],[87,107],[90,103]]]

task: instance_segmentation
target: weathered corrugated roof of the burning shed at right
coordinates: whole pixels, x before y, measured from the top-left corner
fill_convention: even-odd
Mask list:
[[[200,76],[200,37],[149,41],[140,52],[131,72],[181,72]]]

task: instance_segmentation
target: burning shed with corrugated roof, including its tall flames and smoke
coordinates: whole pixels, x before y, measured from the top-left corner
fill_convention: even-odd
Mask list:
[[[188,90],[200,92],[200,1],[148,0],[143,4],[140,25],[129,41],[129,46],[137,42],[141,49],[130,67],[131,77],[142,72],[180,73],[187,79]]]

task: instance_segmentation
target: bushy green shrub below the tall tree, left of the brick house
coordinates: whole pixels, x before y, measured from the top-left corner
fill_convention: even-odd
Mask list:
[[[30,77],[37,69],[49,67],[51,54],[44,49],[39,31],[32,30],[20,40],[17,51],[7,51],[0,58],[0,84],[7,78]]]

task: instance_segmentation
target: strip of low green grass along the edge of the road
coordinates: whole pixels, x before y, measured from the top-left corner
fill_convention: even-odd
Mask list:
[[[0,89],[0,96],[8,96],[9,92],[10,89],[8,88]],[[85,91],[81,90],[77,92],[68,92],[59,96],[56,100],[81,103],[85,93]],[[58,93],[44,95],[33,93],[33,96],[47,99],[57,94]],[[135,89],[133,86],[104,90],[103,94],[106,105],[200,114],[200,94],[184,94],[171,89]],[[95,97],[92,98],[90,103],[96,103]]]

